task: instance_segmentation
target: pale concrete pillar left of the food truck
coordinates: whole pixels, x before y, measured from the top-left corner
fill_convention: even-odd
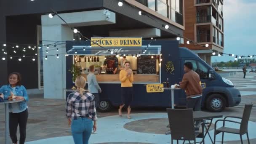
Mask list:
[[[49,46],[53,43],[44,40],[66,41],[73,39],[73,31],[62,24],[42,26],[43,38],[43,82],[44,82],[44,98],[45,99],[63,99],[63,90],[66,88],[66,47],[65,44]],[[62,42],[63,43],[63,42]],[[56,51],[56,48],[59,51]],[[48,53],[46,53],[46,50]],[[59,59],[56,58],[59,54]],[[47,60],[45,56],[47,55]],[[53,55],[53,56],[52,56]]]

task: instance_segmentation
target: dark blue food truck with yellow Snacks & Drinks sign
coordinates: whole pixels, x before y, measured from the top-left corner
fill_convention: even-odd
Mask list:
[[[171,91],[163,90],[179,83],[184,75],[184,63],[192,62],[203,87],[202,107],[220,112],[225,107],[240,104],[240,92],[231,81],[222,78],[196,53],[179,48],[174,40],[142,40],[141,37],[92,37],[91,41],[67,41],[67,88],[72,88],[72,66],[85,78],[91,65],[102,89],[99,110],[107,112],[121,103],[119,72],[123,57],[131,62],[133,71],[133,103],[131,107],[171,107]],[[114,63],[118,63],[117,70]],[[115,74],[114,72],[115,71]],[[109,73],[110,72],[110,73]],[[176,106],[186,105],[184,90],[174,93]]]

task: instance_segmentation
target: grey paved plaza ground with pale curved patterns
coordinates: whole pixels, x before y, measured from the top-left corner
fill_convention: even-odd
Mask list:
[[[246,79],[242,74],[226,77],[231,80],[242,94],[242,102],[237,107],[231,107],[221,112],[224,116],[242,116],[244,104],[253,103],[249,123],[251,143],[256,143],[256,74],[248,74]],[[65,117],[65,101],[42,99],[42,96],[30,96],[29,120],[27,125],[28,144],[72,144],[70,128]],[[4,143],[4,109],[0,105],[0,144]],[[117,115],[117,110],[99,113],[98,132],[93,134],[90,143],[94,144],[163,144],[170,143],[170,135],[164,133],[168,123],[165,109],[132,109],[132,119],[128,120]],[[211,131],[213,133],[213,131]],[[18,135],[19,136],[19,135]],[[62,137],[61,137],[62,136]],[[64,136],[64,137],[63,137]],[[226,138],[227,136],[227,138]],[[52,138],[52,139],[48,139]],[[40,139],[45,139],[37,141]],[[246,136],[243,137],[246,139]],[[220,137],[217,137],[220,140]],[[226,144],[240,144],[239,136],[226,135]],[[235,141],[234,141],[235,140]],[[121,142],[122,141],[122,142]]]

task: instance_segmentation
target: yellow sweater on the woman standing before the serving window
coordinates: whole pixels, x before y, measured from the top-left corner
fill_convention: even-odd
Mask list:
[[[121,81],[121,87],[132,87],[133,86],[133,74],[126,77],[127,72],[123,69],[120,71],[119,80]]]

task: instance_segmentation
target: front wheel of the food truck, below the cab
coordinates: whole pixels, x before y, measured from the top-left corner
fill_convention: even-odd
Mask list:
[[[206,100],[206,108],[211,112],[221,112],[226,105],[226,99],[220,94],[212,94]]]

